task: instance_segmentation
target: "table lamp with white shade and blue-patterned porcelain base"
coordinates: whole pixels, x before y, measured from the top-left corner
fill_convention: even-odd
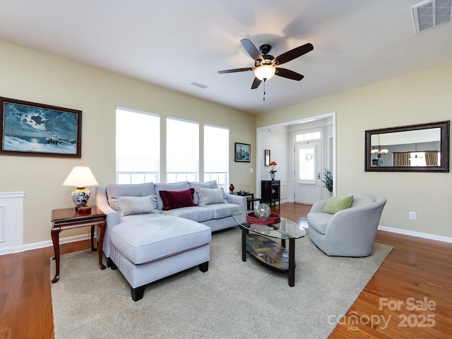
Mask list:
[[[91,208],[87,206],[90,198],[90,191],[86,186],[96,186],[97,181],[91,172],[90,167],[85,167],[83,164],[73,167],[63,186],[75,186],[76,189],[72,191],[72,201],[76,204],[76,210],[79,212],[89,212]]]

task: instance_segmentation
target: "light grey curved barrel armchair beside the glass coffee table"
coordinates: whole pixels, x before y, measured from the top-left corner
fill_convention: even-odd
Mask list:
[[[386,198],[352,194],[352,207],[322,213],[328,200],[314,203],[308,213],[309,237],[328,256],[370,256]]]

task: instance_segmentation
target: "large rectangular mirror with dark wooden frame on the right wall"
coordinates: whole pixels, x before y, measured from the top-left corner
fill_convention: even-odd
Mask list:
[[[367,172],[449,172],[450,121],[366,131]]]

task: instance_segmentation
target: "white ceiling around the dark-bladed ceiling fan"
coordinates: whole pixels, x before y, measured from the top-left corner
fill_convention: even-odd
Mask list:
[[[0,40],[258,114],[452,62],[451,23],[415,34],[419,2],[0,1]],[[273,77],[263,101],[251,71],[218,74],[254,66],[243,38],[275,57],[311,42],[284,65],[304,79]]]

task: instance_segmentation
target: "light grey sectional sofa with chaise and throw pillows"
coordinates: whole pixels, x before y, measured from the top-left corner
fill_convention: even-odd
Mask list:
[[[244,196],[215,181],[97,186],[95,201],[106,215],[107,266],[121,271],[134,301],[155,280],[197,265],[206,272],[211,233],[236,226],[232,215],[246,210]]]

